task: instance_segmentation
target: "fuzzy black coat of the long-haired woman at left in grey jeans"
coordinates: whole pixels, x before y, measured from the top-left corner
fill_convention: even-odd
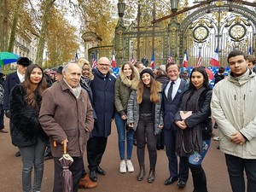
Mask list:
[[[15,85],[10,94],[10,127],[12,143],[18,147],[36,144],[38,137],[42,141],[48,141],[49,137],[44,133],[39,120],[39,108],[42,96],[36,92],[37,108],[32,108],[26,101],[26,90],[21,84]]]

